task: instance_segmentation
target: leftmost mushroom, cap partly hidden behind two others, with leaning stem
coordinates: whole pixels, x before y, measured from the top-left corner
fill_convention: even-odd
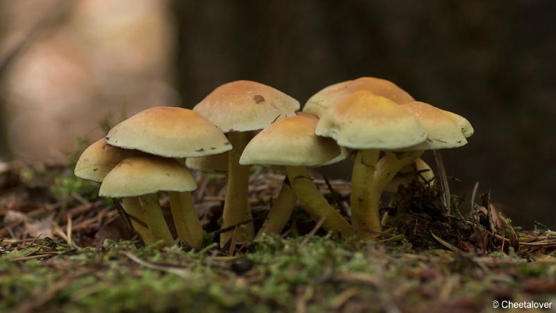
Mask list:
[[[110,172],[117,163],[126,157],[138,154],[137,150],[125,150],[119,147],[108,145],[104,138],[90,145],[83,153],[75,166],[75,176],[89,179],[95,182],[102,182],[106,174]],[[145,224],[145,213],[139,203],[138,198],[122,198],[122,207],[129,215],[131,226],[138,232],[141,239],[146,244],[153,243],[152,234]]]

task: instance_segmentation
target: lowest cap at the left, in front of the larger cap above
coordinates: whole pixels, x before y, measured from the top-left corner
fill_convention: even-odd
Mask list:
[[[158,191],[193,191],[196,188],[195,179],[178,161],[142,155],[127,157],[108,172],[99,195],[125,198]]]

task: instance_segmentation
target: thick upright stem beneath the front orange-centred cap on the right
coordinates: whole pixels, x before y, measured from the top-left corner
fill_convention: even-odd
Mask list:
[[[352,172],[352,225],[361,239],[371,239],[380,232],[378,211],[370,210],[370,188],[373,186],[379,150],[359,150]]]

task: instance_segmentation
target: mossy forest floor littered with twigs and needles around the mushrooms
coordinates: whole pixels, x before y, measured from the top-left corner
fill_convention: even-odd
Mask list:
[[[441,191],[402,188],[375,243],[336,239],[297,208],[282,236],[233,249],[207,236],[195,252],[142,246],[72,166],[0,163],[0,311],[490,312],[530,301],[556,311],[556,232],[521,230],[488,195],[460,214],[457,197],[448,211]],[[282,178],[254,170],[256,224]],[[197,179],[204,228],[218,230],[225,179]],[[345,182],[316,183],[347,210]]]

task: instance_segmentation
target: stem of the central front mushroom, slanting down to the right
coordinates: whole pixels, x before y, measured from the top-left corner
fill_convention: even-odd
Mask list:
[[[355,234],[355,230],[350,223],[347,223],[347,220],[334,210],[318,191],[309,171],[304,166],[286,166],[286,172],[297,199],[300,200],[303,209],[309,213],[313,220],[325,218],[322,228],[339,232],[343,238]]]

